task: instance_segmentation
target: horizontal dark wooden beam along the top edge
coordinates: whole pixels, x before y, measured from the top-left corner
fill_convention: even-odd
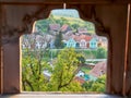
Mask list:
[[[108,4],[112,0],[0,0],[2,4]]]

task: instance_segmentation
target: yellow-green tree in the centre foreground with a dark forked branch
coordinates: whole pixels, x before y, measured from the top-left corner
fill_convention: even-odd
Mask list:
[[[83,90],[81,85],[73,82],[75,74],[83,66],[82,61],[79,59],[82,54],[74,51],[74,49],[63,49],[58,54],[52,75],[49,83],[50,90],[53,91],[74,91]],[[76,87],[74,85],[78,85]],[[73,87],[73,88],[72,88]]]

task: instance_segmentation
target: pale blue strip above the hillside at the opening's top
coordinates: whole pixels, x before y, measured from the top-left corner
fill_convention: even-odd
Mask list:
[[[74,9],[57,9],[52,10],[50,14],[80,19],[79,12]]]

